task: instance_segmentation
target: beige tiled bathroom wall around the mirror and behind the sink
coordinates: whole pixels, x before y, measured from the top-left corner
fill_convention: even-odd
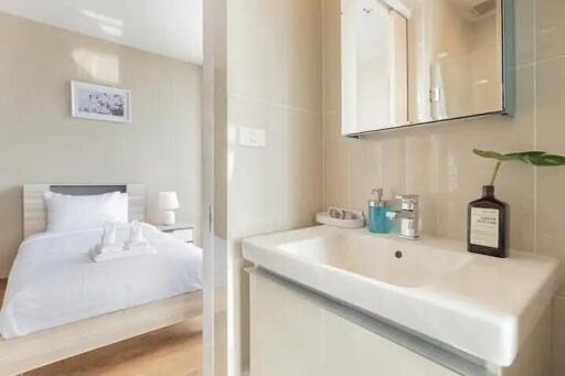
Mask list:
[[[374,186],[387,196],[420,194],[424,233],[465,239],[466,205],[480,195],[492,162],[473,148],[565,154],[565,1],[518,0],[513,118],[491,116],[379,133],[340,136],[339,0],[323,2],[324,206],[365,208]],[[513,248],[565,261],[565,168],[503,166],[497,195],[511,205]],[[554,300],[554,375],[565,375],[565,291]]]

